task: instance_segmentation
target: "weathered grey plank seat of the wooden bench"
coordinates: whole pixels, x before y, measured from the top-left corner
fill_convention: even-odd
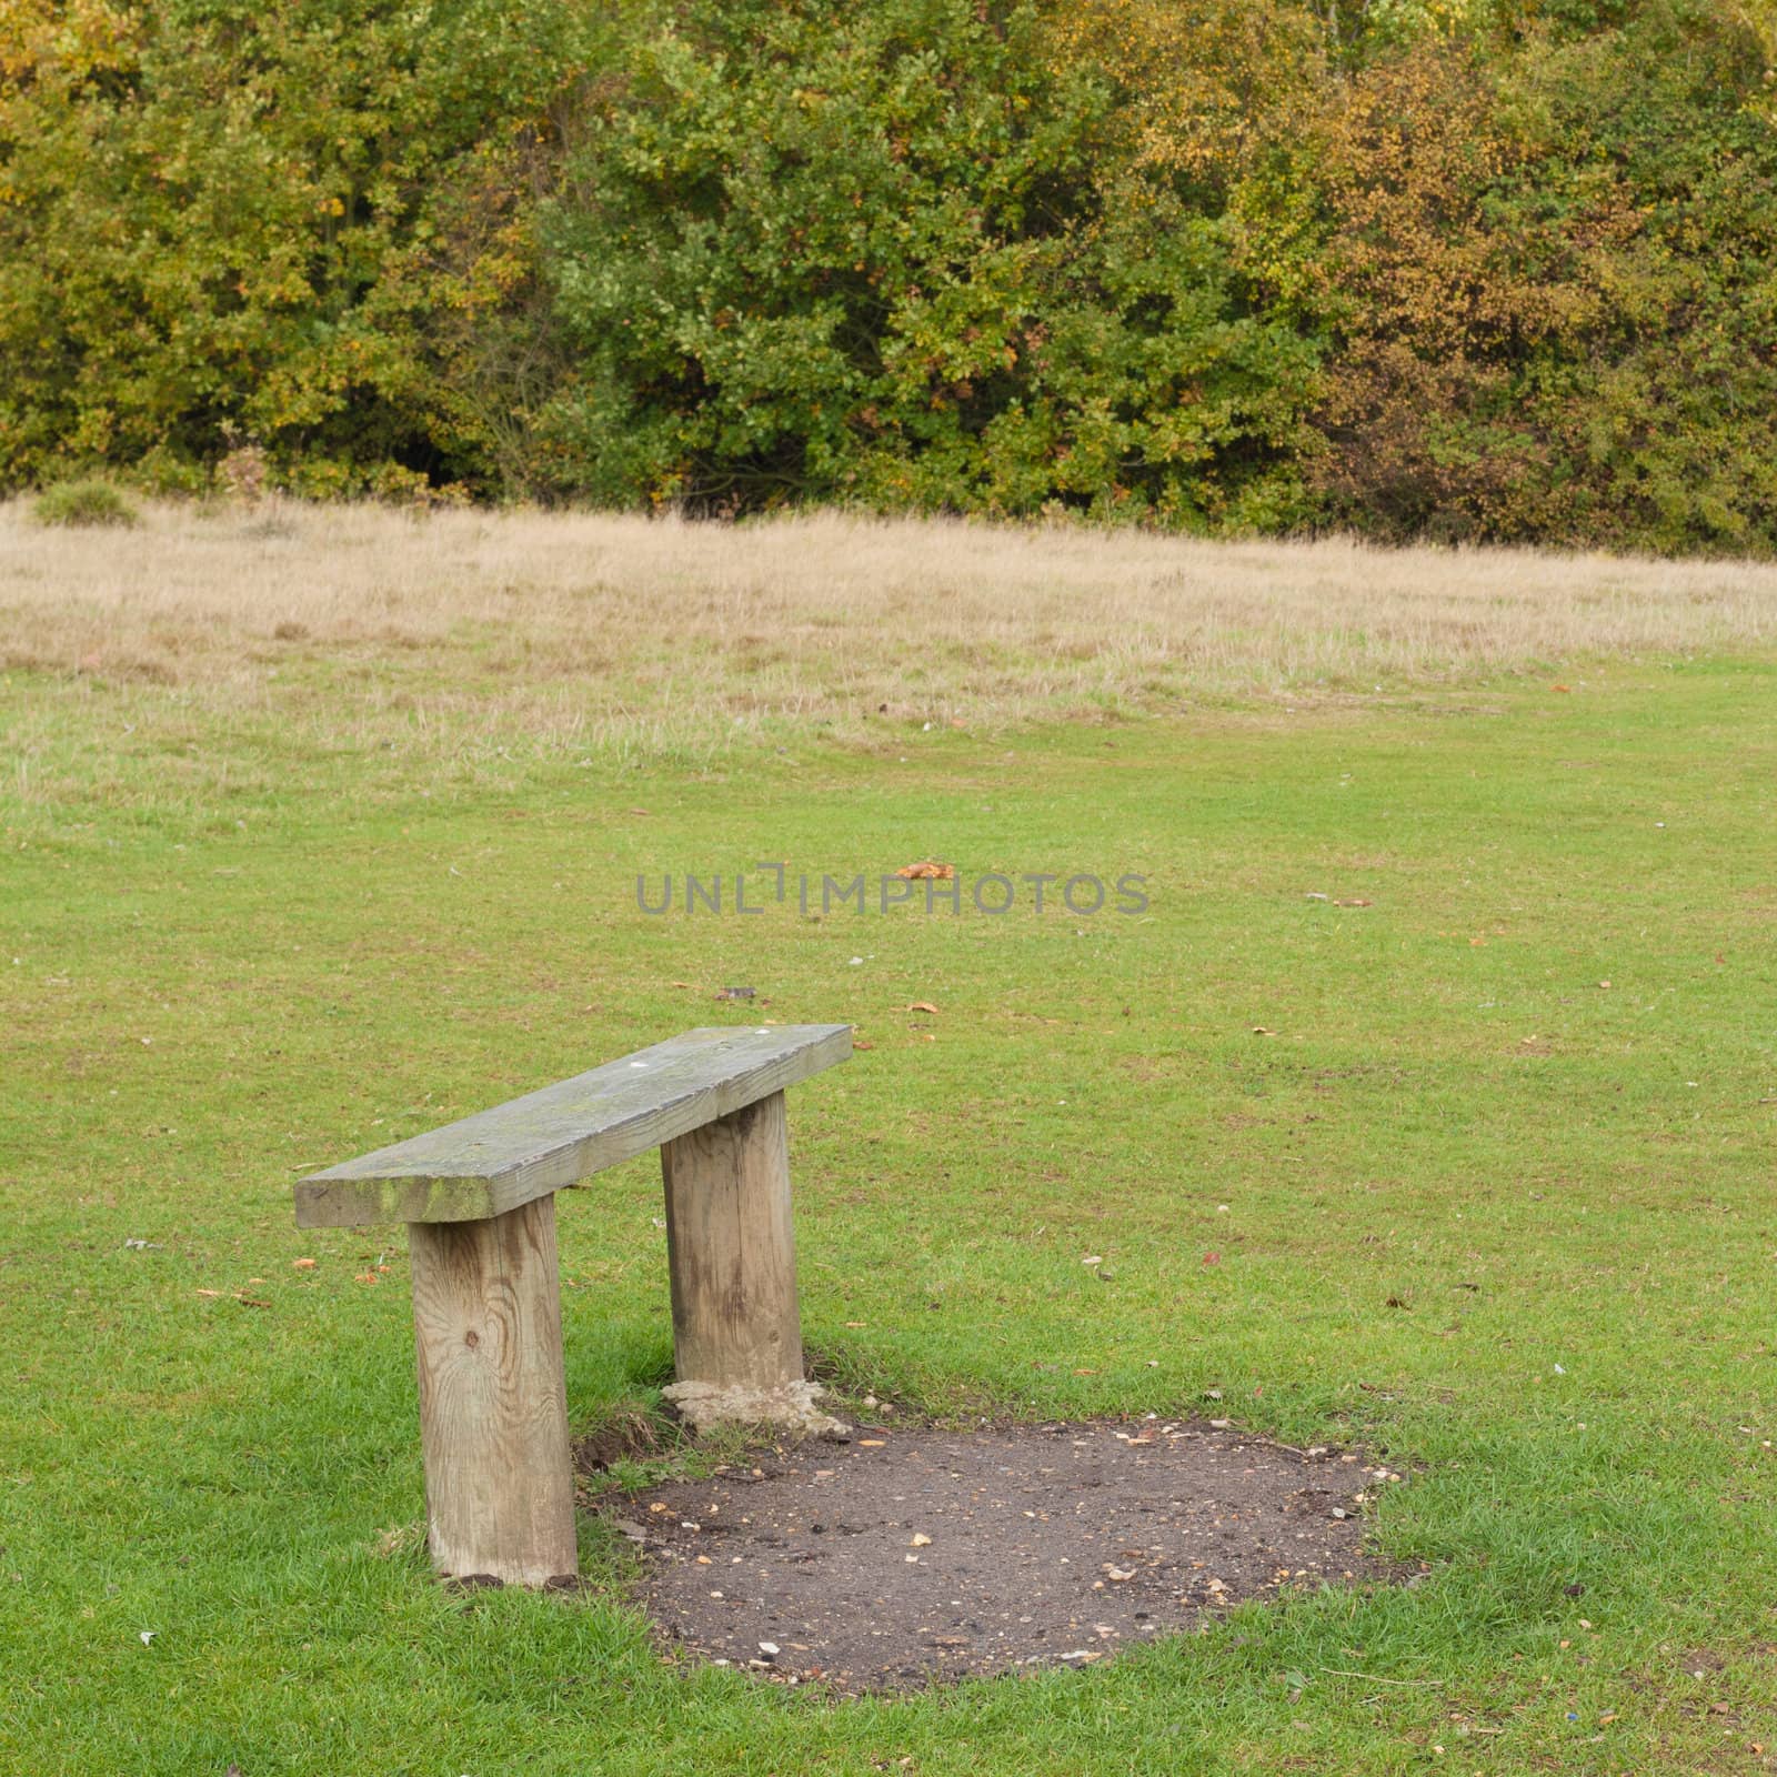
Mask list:
[[[784,1091],[851,1054],[844,1024],[718,1025],[297,1185],[297,1226],[499,1215]]]

